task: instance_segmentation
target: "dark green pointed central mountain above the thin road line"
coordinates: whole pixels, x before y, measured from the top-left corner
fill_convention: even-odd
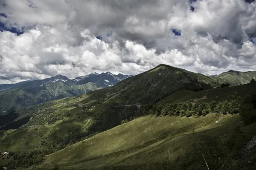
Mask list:
[[[181,89],[200,91],[216,86],[213,79],[202,74],[169,65],[158,65],[145,73],[127,78],[112,88],[89,93],[83,103],[96,101],[102,105],[113,102],[120,105],[145,105]]]

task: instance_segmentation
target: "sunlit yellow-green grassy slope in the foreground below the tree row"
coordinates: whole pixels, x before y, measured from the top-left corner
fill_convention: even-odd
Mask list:
[[[175,161],[202,134],[213,137],[224,134],[227,142],[230,132],[241,125],[239,115],[221,115],[220,127],[215,123],[217,119],[216,114],[198,118],[140,117],[53,153],[40,167],[50,169],[54,164],[61,169],[81,170],[175,167]]]

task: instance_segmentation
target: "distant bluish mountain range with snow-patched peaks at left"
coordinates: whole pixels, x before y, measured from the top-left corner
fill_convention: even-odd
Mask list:
[[[64,97],[111,87],[133,75],[94,73],[69,79],[57,75],[47,79],[32,79],[16,84],[0,85],[0,113]]]

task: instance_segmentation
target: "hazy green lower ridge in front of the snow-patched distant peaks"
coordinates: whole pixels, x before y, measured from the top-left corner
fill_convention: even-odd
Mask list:
[[[10,108],[23,108],[39,103],[76,96],[100,89],[93,83],[68,85],[64,82],[45,83],[36,88],[17,88],[0,92],[0,113]]]

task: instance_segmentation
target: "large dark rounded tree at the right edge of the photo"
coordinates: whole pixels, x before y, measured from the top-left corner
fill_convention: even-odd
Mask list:
[[[240,116],[246,124],[256,121],[256,92],[253,91],[244,97],[240,105]]]

